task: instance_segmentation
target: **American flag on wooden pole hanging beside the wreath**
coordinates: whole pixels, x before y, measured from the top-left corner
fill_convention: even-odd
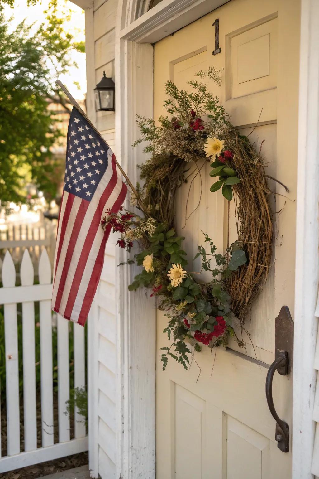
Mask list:
[[[100,221],[118,213],[127,192],[115,155],[74,107],[67,131],[66,174],[59,212],[52,309],[84,325],[110,235]]]

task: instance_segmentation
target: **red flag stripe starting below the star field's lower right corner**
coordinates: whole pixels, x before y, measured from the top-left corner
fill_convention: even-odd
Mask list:
[[[69,195],[69,196],[71,196],[71,195]],[[77,211],[77,217],[74,221],[74,225],[73,225],[73,228],[72,228],[72,233],[71,233],[71,236],[70,236],[69,244],[67,246],[66,259],[64,261],[62,274],[61,274],[61,278],[60,278],[60,283],[59,283],[59,287],[58,287],[58,290],[57,290],[57,293],[56,293],[55,307],[54,307],[55,311],[56,310],[58,311],[59,308],[60,308],[61,299],[62,299],[63,292],[64,292],[64,286],[66,284],[66,277],[67,277],[67,274],[68,274],[68,271],[69,271],[74,247],[76,245],[77,237],[78,237],[79,231],[81,229],[82,222],[83,222],[83,219],[85,217],[85,213],[88,209],[89,204],[90,203],[89,203],[88,200],[82,199],[82,201],[80,203],[80,206],[79,206],[79,209]]]

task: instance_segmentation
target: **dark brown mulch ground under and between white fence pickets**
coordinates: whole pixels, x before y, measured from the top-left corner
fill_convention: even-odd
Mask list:
[[[57,394],[54,394],[54,442],[59,442],[58,435],[58,403]],[[70,414],[70,439],[74,438],[74,415]],[[41,447],[41,398],[37,391],[37,445]],[[23,402],[20,404],[20,450],[24,451]],[[1,455],[7,455],[7,418],[6,404],[1,403]],[[88,464],[88,452],[74,454],[53,461],[47,461],[27,468],[15,469],[0,474],[0,479],[37,479],[67,469],[77,468]]]

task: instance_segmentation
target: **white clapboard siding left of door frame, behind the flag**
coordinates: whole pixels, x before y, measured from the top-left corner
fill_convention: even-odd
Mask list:
[[[114,78],[115,22],[118,0],[94,0],[93,15],[86,17],[87,46],[94,57],[95,83],[105,71]],[[91,71],[89,76],[91,76]],[[98,112],[96,125],[115,155],[115,114]],[[99,287],[88,325],[89,467],[91,477],[116,479],[116,264],[111,234],[106,245]]]

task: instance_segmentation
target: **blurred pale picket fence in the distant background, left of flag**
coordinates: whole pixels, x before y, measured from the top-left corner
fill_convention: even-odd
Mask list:
[[[13,262],[21,262],[23,252],[27,249],[33,265],[37,265],[41,252],[46,249],[53,265],[56,238],[56,223],[44,220],[39,223],[7,224],[0,230],[0,250],[10,251]],[[2,259],[0,257],[0,270]],[[36,272],[37,273],[37,272]]]

